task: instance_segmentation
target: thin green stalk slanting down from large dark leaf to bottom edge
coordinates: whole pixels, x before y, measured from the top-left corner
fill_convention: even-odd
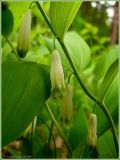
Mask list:
[[[54,117],[49,105],[47,104],[47,102],[45,102],[45,106],[46,106],[46,109],[47,109],[52,121],[54,122],[54,124],[56,125],[57,129],[59,130],[59,133],[60,133],[61,137],[64,140],[64,143],[66,144],[66,146],[68,148],[69,156],[71,157],[72,156],[72,149],[71,149],[70,145],[68,144],[65,135],[63,134],[62,128],[60,127],[60,125],[58,124],[57,120],[55,119],[55,117]]]

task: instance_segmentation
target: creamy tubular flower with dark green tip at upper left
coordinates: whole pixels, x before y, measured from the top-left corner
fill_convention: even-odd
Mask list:
[[[31,10],[28,9],[18,33],[17,51],[19,57],[21,58],[24,58],[26,56],[30,39],[30,31],[31,31]]]

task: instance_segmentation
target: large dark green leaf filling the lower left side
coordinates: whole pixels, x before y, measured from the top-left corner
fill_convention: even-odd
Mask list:
[[[49,68],[32,62],[2,64],[2,145],[32,122],[50,95]]]

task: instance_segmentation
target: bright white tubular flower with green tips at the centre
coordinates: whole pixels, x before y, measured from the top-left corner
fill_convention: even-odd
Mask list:
[[[64,72],[61,58],[57,50],[54,50],[52,53],[50,80],[52,86],[51,95],[53,96],[53,98],[64,96],[66,94]]]

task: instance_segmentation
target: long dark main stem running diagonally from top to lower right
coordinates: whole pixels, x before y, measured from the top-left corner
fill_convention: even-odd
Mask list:
[[[68,61],[69,61],[70,65],[71,65],[71,67],[73,69],[74,75],[75,75],[76,79],[78,80],[80,86],[82,87],[84,92],[88,95],[88,97],[91,98],[94,102],[96,102],[96,104],[98,104],[101,107],[101,109],[103,110],[104,114],[106,115],[106,117],[107,117],[107,119],[108,119],[108,121],[109,121],[109,123],[111,125],[111,128],[112,128],[112,133],[113,133],[113,138],[114,138],[114,142],[115,142],[116,152],[118,153],[118,139],[117,139],[116,128],[115,128],[113,119],[112,119],[107,107],[100,100],[98,100],[98,98],[96,98],[94,95],[92,95],[87,90],[86,86],[84,85],[84,83],[82,82],[81,78],[79,77],[79,73],[78,73],[78,71],[77,71],[77,69],[76,69],[76,67],[75,67],[75,65],[74,65],[74,63],[73,63],[73,61],[72,61],[72,59],[71,59],[71,57],[69,55],[69,52],[68,52],[63,40],[60,37],[57,37],[57,35],[55,34],[55,32],[54,32],[54,30],[53,30],[53,28],[52,28],[52,26],[50,24],[50,21],[49,21],[47,15],[46,15],[46,13],[44,12],[43,8],[40,6],[39,2],[35,2],[35,3],[37,5],[38,9],[40,10],[40,12],[42,13],[46,23],[48,24],[49,28],[52,31],[52,33],[54,34],[54,36],[59,41],[59,43],[60,43],[60,45],[61,45],[61,47],[62,47],[62,49],[63,49],[63,51],[64,51],[64,53],[65,53],[65,55],[66,55],[66,57],[68,59]]]

